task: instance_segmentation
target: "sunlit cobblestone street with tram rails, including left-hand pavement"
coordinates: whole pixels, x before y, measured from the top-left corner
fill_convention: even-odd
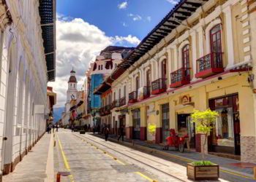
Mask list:
[[[150,154],[123,144],[112,139],[105,141],[91,133],[81,135],[60,129],[51,135],[43,135],[17,165],[15,172],[5,175],[3,180],[56,181],[57,173],[68,172],[68,176],[61,176],[61,182],[189,181],[186,165],[178,159]],[[236,173],[222,171],[219,181],[254,181]]]

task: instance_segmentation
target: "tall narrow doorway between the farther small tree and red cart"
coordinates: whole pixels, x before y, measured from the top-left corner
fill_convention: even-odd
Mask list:
[[[165,141],[165,138],[170,136],[170,114],[169,114],[169,103],[162,105],[162,142]]]

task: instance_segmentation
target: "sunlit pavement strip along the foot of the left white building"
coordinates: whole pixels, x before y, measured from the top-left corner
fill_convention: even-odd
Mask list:
[[[50,149],[50,143],[53,141],[53,134],[42,136],[37,144],[29,151],[22,162],[19,162],[15,167],[15,170],[3,176],[3,181],[8,182],[29,182],[29,181],[52,181],[51,171],[53,172],[53,166],[49,164],[48,151]],[[50,172],[49,172],[50,171]]]

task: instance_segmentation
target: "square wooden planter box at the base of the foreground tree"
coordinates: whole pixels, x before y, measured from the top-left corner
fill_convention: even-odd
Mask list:
[[[187,177],[194,181],[218,180],[219,165],[195,165],[187,164]]]

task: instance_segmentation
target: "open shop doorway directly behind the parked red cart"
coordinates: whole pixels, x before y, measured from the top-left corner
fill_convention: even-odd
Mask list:
[[[195,123],[191,122],[190,114],[178,114],[178,133],[181,130],[187,130],[189,136],[189,146],[195,149]]]

